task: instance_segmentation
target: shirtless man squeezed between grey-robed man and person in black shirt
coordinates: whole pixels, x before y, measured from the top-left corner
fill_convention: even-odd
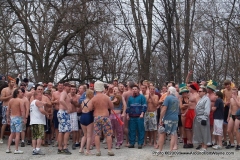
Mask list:
[[[211,85],[207,85],[207,93],[208,93],[208,97],[211,101],[211,108],[214,107],[215,102],[217,100],[217,96],[214,93],[215,89],[211,87]],[[215,145],[215,143],[217,142],[217,139],[215,138],[215,136],[213,135],[213,111],[210,111],[209,114],[209,120],[210,120],[210,132],[211,132],[211,139],[212,139],[212,146]]]

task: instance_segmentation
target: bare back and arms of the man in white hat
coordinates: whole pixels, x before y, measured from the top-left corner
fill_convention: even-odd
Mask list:
[[[96,96],[89,101],[88,107],[90,110],[94,110],[94,116],[108,117],[108,109],[113,109],[113,103],[107,95],[97,93]]]

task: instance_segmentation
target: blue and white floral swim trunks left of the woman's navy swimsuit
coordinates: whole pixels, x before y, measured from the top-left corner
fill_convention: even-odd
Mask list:
[[[57,113],[57,117],[59,122],[58,131],[71,132],[70,115],[64,110],[59,110]]]

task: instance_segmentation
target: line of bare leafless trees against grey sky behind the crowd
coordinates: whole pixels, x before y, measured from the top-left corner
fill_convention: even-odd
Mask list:
[[[0,2],[2,74],[32,81],[225,79],[239,85],[239,3]]]

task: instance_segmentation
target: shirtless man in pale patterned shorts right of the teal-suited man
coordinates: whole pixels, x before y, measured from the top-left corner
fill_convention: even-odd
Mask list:
[[[144,128],[145,128],[145,135],[149,136],[149,145],[151,146],[152,143],[155,147],[156,138],[157,138],[157,106],[158,106],[158,96],[155,95],[155,87],[150,86],[149,88],[149,95],[146,96],[147,99],[147,112],[144,115]],[[145,143],[146,143],[146,136],[145,136]],[[152,142],[153,141],[153,142]]]

